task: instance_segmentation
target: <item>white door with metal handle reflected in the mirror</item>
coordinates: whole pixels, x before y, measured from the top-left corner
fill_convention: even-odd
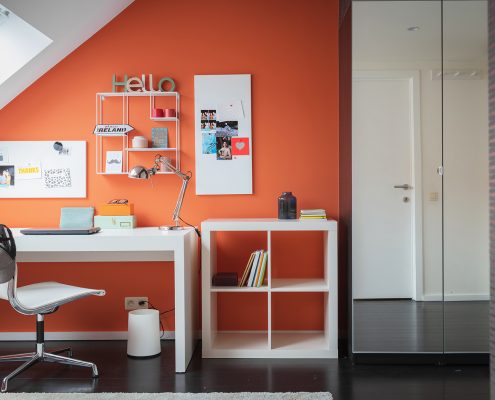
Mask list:
[[[415,299],[422,280],[418,80],[408,71],[353,76],[354,299]]]

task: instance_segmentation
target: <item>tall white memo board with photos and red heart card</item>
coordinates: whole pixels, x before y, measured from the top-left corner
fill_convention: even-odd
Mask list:
[[[252,194],[251,75],[195,75],[194,113],[196,194]]]

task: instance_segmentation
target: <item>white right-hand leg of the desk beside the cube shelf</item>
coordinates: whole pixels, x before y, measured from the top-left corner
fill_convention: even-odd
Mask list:
[[[191,231],[178,244],[175,266],[175,372],[186,372],[196,347],[198,239]]]

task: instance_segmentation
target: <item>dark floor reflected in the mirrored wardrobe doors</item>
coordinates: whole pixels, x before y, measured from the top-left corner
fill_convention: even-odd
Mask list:
[[[488,301],[354,300],[355,352],[488,353]]]

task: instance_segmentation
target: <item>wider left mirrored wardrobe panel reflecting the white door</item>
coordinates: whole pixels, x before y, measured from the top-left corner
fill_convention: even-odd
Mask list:
[[[352,17],[353,352],[441,353],[441,2]]]

